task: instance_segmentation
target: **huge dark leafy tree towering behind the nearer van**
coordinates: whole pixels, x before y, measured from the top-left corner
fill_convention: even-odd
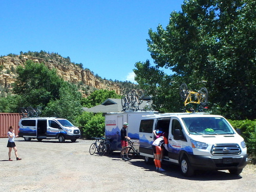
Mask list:
[[[166,88],[178,94],[182,82],[190,83],[192,90],[205,86],[212,110],[233,119],[254,118],[255,4],[252,0],[184,1],[181,12],[170,14],[166,29],[159,25],[156,32],[148,32],[148,51],[155,66],[148,61],[136,63],[135,80],[143,89],[158,90],[153,94],[154,101],[161,101]],[[163,73],[161,77],[161,67],[173,74]],[[158,75],[144,75],[148,69],[155,69]],[[147,81],[155,81],[155,85],[151,82],[149,86]],[[157,103],[158,108],[166,106],[167,110],[173,110],[176,104],[176,98],[167,106]]]

